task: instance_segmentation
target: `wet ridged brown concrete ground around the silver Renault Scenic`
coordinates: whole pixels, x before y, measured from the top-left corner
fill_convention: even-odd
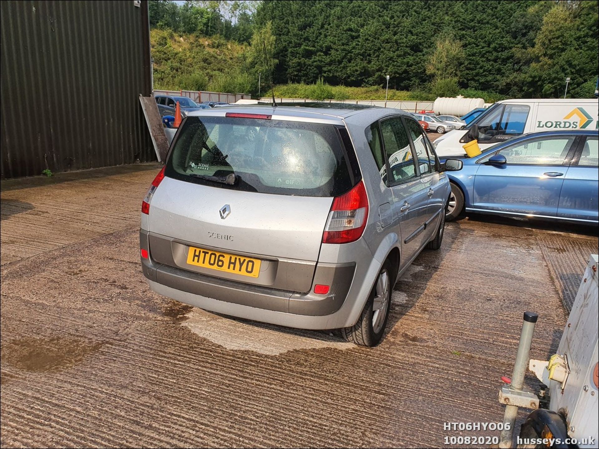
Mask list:
[[[374,348],[154,294],[138,219],[156,165],[2,182],[2,447],[445,447],[498,422],[522,312],[556,349],[597,236],[447,224],[394,289]],[[537,382],[527,377],[530,386]]]

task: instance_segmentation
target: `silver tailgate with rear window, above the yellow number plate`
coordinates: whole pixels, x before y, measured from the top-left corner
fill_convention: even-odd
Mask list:
[[[332,197],[356,183],[340,130],[264,117],[186,118],[152,198],[152,233],[222,252],[317,261]]]

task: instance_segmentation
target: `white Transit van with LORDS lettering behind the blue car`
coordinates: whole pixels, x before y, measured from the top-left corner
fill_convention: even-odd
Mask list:
[[[463,155],[462,145],[477,139],[482,151],[525,133],[564,129],[598,129],[597,99],[503,100],[464,129],[453,130],[432,144],[438,157]]]

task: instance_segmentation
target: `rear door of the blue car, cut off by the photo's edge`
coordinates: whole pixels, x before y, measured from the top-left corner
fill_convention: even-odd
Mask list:
[[[558,216],[578,220],[598,220],[599,151],[597,137],[581,138],[559,196]]]

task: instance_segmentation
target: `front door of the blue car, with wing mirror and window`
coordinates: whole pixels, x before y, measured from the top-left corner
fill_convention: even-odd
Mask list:
[[[473,207],[504,213],[556,216],[559,194],[571,157],[574,136],[519,140],[494,153],[504,164],[480,161],[474,177]]]

